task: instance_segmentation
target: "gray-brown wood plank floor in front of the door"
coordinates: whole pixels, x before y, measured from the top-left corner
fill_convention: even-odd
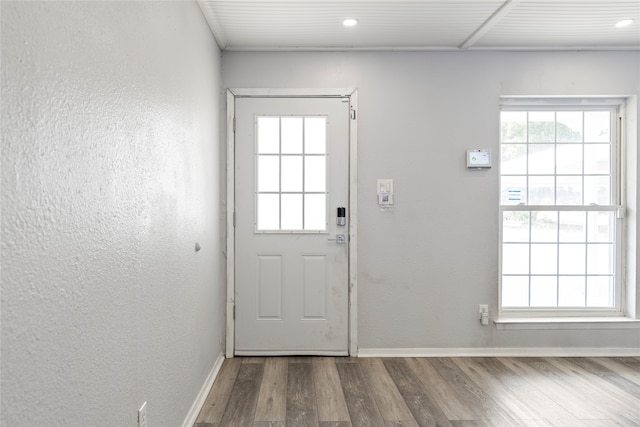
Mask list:
[[[640,426],[640,357],[238,357],[194,427],[222,426]]]

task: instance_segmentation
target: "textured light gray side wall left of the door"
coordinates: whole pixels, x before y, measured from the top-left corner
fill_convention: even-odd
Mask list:
[[[179,425],[224,341],[220,52],[195,2],[1,8],[1,423]]]

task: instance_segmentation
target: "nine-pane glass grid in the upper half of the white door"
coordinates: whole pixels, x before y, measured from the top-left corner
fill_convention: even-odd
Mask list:
[[[327,229],[324,116],[256,120],[256,231]]]

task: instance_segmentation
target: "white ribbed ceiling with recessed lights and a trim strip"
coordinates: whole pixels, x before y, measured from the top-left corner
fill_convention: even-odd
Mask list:
[[[640,50],[640,0],[198,3],[226,50]]]

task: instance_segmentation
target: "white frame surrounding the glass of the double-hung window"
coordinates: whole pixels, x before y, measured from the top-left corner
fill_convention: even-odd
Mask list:
[[[500,318],[571,318],[571,317],[622,317],[625,315],[625,286],[623,267],[625,259],[624,241],[624,159],[619,118],[624,99],[585,99],[585,98],[502,98],[500,112],[502,111],[612,111],[611,118],[611,205],[502,205],[499,206],[499,286],[498,286],[498,311]],[[527,142],[528,144],[528,142]],[[500,129],[500,151],[502,150],[502,131]],[[502,165],[500,165],[501,167]],[[555,176],[555,172],[554,172]],[[502,174],[500,175],[502,181]],[[500,184],[501,185],[501,184]],[[533,208],[533,209],[532,209]],[[614,275],[614,305],[613,307],[579,307],[579,308],[537,308],[518,307],[509,308],[502,306],[502,262],[503,262],[503,213],[507,211],[614,211],[616,212],[615,232],[615,275]]]

